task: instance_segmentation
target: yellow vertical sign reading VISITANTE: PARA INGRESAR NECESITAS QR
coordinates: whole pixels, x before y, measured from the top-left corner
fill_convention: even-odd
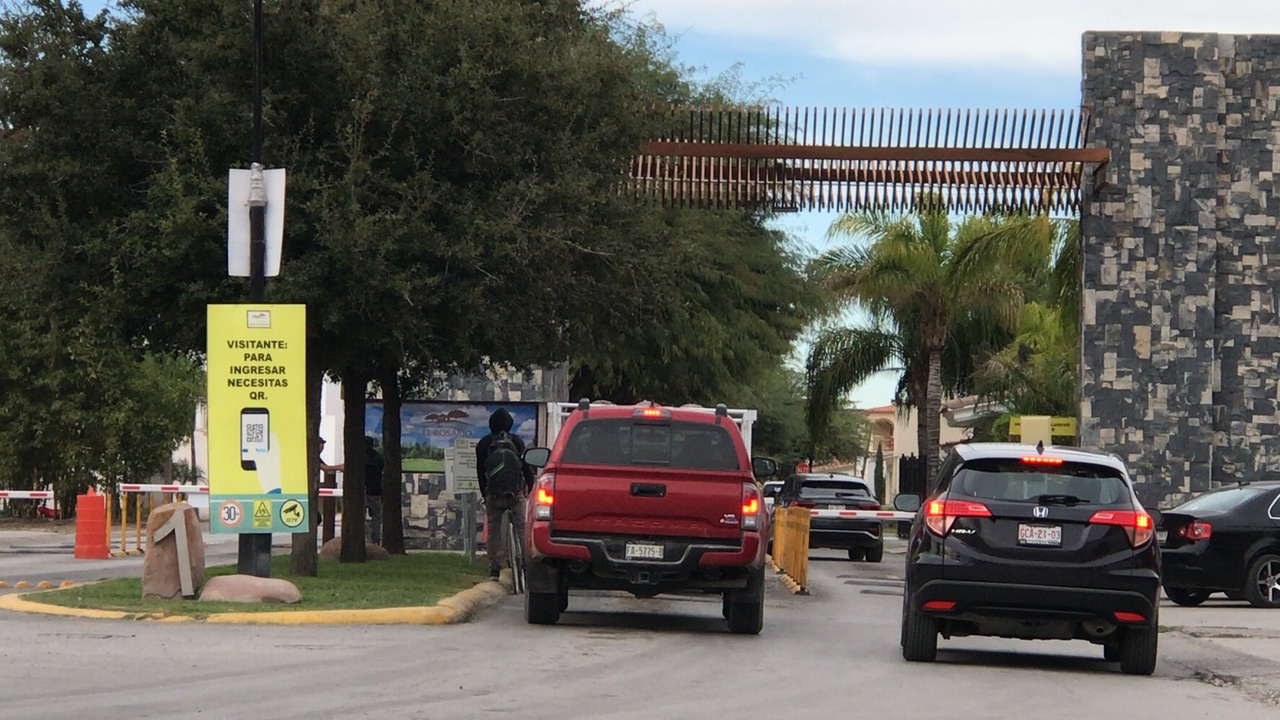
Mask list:
[[[288,501],[289,520],[306,511],[306,327],[305,305],[209,306],[209,496],[251,507],[253,532],[297,530]]]

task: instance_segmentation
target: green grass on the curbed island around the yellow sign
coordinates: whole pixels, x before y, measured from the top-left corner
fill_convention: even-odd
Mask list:
[[[271,557],[271,577],[289,580],[302,592],[302,602],[297,605],[142,600],[140,578],[31,593],[24,600],[67,607],[193,616],[216,612],[416,607],[435,605],[442,598],[470,588],[489,575],[489,566],[484,562],[468,564],[466,556],[458,553],[413,552],[358,564],[321,560],[316,578],[293,577],[288,571],[288,555]],[[233,573],[234,565],[206,568],[205,578]]]

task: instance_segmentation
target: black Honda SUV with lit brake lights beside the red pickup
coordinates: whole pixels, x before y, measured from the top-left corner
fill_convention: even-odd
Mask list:
[[[915,496],[900,496],[914,510]],[[1158,519],[1158,518],[1157,518]],[[938,635],[1084,639],[1126,674],[1156,669],[1160,548],[1114,455],[1012,443],[956,446],[911,527],[902,656]]]

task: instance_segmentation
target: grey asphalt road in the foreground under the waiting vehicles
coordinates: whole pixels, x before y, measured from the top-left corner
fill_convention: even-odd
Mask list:
[[[0,717],[1274,720],[1280,712],[1268,694],[1280,689],[1280,664],[1179,632],[1162,634],[1153,678],[1121,675],[1082,642],[964,638],[943,642],[936,664],[906,664],[900,573],[897,553],[870,565],[815,551],[812,594],[771,582],[759,637],[731,635],[716,600],[618,596],[575,597],[556,626],[526,625],[517,597],[453,626],[0,612]],[[1198,609],[1169,614],[1187,610]]]

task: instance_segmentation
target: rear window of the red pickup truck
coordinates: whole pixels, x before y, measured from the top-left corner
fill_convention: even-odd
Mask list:
[[[733,438],[710,423],[644,423],[630,418],[582,420],[564,445],[562,462],[654,465],[684,470],[737,470]]]

